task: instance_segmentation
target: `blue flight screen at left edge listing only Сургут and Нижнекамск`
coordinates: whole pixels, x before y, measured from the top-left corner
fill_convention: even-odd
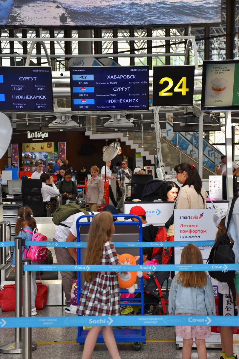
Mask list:
[[[51,67],[0,66],[0,111],[53,111]]]

